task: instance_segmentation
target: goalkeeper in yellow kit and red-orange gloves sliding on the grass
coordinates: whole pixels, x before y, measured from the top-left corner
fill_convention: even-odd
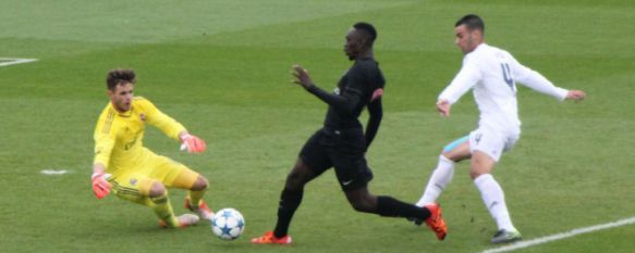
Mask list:
[[[211,219],[213,214],[203,201],[207,179],[143,146],[146,124],[181,140],[181,149],[192,153],[205,151],[205,141],[190,135],[183,125],[161,113],[149,100],[133,97],[134,71],[110,71],[106,83],[110,102],[99,116],[94,136],[91,179],[95,195],[102,199],[112,190],[123,200],[146,205],[157,214],[163,227],[186,227],[200,218]],[[197,215],[175,216],[168,188],[188,190],[185,207]]]

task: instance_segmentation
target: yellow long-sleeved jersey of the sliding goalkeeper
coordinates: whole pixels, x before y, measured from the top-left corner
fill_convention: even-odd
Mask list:
[[[108,103],[101,112],[95,127],[95,161],[106,166],[111,174],[120,169],[138,167],[151,152],[144,143],[146,124],[161,129],[172,139],[179,139],[179,134],[185,127],[170,116],[159,111],[155,104],[142,97],[135,97],[131,110],[118,112],[112,103]]]

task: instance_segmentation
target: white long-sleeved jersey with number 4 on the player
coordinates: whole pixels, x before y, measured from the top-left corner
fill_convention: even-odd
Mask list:
[[[509,52],[481,43],[465,54],[461,71],[439,94],[439,101],[453,104],[474,88],[474,100],[480,111],[479,127],[520,135],[516,81],[561,101],[569,92],[518,63]]]

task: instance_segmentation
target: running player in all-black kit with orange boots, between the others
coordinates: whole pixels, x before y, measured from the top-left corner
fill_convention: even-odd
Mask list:
[[[355,211],[388,217],[420,218],[426,220],[439,240],[445,237],[445,223],[437,204],[418,207],[368,192],[367,184],[373,173],[366,165],[364,154],[381,123],[381,94],[386,84],[373,54],[376,38],[377,31],[368,23],[357,23],[349,30],[344,51],[355,63],[342,76],[333,93],[315,86],[306,69],[293,66],[294,83],[329,104],[329,111],[323,127],[302,148],[293,170],[286,177],[276,229],[252,239],[253,243],[291,243],[289,225],[302,202],[304,186],[331,167],[335,168],[338,181]],[[366,106],[369,118],[364,132],[358,117]]]

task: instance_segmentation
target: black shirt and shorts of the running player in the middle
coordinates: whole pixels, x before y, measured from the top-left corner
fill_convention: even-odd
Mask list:
[[[384,84],[379,64],[373,58],[364,58],[344,73],[332,93],[316,86],[307,88],[328,103],[329,110],[323,128],[305,143],[300,157],[316,175],[335,167],[344,191],[366,187],[373,178],[364,155],[382,117],[381,98],[373,96],[383,89]],[[366,132],[358,119],[364,107],[368,107],[369,113]]]

